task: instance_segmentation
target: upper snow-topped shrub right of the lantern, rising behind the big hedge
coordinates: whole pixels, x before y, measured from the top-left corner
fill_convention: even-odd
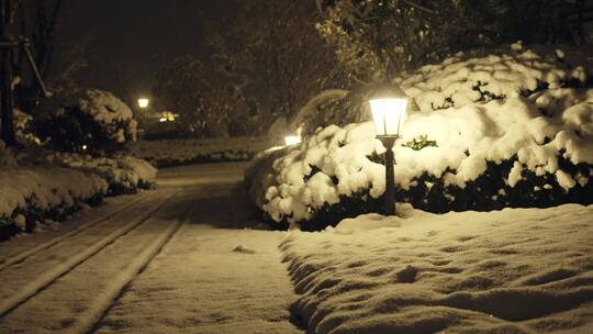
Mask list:
[[[468,58],[460,53],[441,64],[421,67],[401,85],[419,110],[429,111],[583,84],[590,66],[582,57],[570,59],[570,64],[558,51],[514,44],[482,57]]]

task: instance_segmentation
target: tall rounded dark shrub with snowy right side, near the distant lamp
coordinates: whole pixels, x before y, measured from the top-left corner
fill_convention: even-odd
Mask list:
[[[99,89],[51,98],[35,113],[37,135],[58,151],[111,153],[136,140],[132,110]]]

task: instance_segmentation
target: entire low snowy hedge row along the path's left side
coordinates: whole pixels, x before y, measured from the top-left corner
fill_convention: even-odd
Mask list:
[[[0,241],[64,221],[104,196],[153,188],[156,174],[150,164],[131,156],[13,151],[0,141]]]

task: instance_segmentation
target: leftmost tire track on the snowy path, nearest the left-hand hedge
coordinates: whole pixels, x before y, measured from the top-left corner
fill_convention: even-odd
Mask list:
[[[96,220],[91,221],[90,223],[87,223],[87,224],[83,224],[66,234],[63,234],[60,236],[57,236],[55,238],[52,238],[45,243],[42,243],[26,252],[23,252],[23,253],[19,253],[14,256],[11,256],[11,257],[8,257],[8,258],[4,258],[3,260],[0,260],[0,271],[2,270],[5,270],[7,268],[10,268],[16,264],[20,264],[24,260],[26,260],[27,258],[30,258],[31,256],[42,252],[42,250],[45,250],[45,249],[48,249],[48,248],[52,248],[54,247],[55,245],[61,243],[63,241],[67,240],[67,238],[70,238],[72,236],[76,236],[85,231],[87,231],[88,229],[91,229],[91,227],[96,227],[96,226],[100,226],[102,224],[104,224],[105,222],[108,222],[109,220],[111,220],[112,218],[116,216],[118,214],[124,212],[125,210],[130,209],[131,207],[133,207],[134,204],[137,204],[138,202],[147,199],[149,196],[148,193],[142,196],[141,198],[137,198],[137,199],[134,199],[133,201],[128,202],[128,203],[125,203],[124,205],[122,205],[121,208],[119,208],[118,210],[115,211],[112,211],[110,213],[107,213],[107,214],[103,214],[102,216],[100,218],[97,218]]]

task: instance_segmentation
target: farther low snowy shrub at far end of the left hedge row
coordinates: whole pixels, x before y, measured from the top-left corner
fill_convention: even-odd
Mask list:
[[[108,196],[135,193],[138,189],[150,189],[155,186],[157,175],[157,169],[146,160],[132,156],[92,157],[81,154],[55,153],[48,155],[46,160],[100,176],[109,185]]]

